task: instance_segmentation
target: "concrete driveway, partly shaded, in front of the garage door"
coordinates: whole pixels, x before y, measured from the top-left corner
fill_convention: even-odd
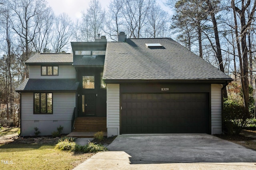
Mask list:
[[[75,169],[256,169],[256,151],[207,134],[119,135],[107,148]]]

